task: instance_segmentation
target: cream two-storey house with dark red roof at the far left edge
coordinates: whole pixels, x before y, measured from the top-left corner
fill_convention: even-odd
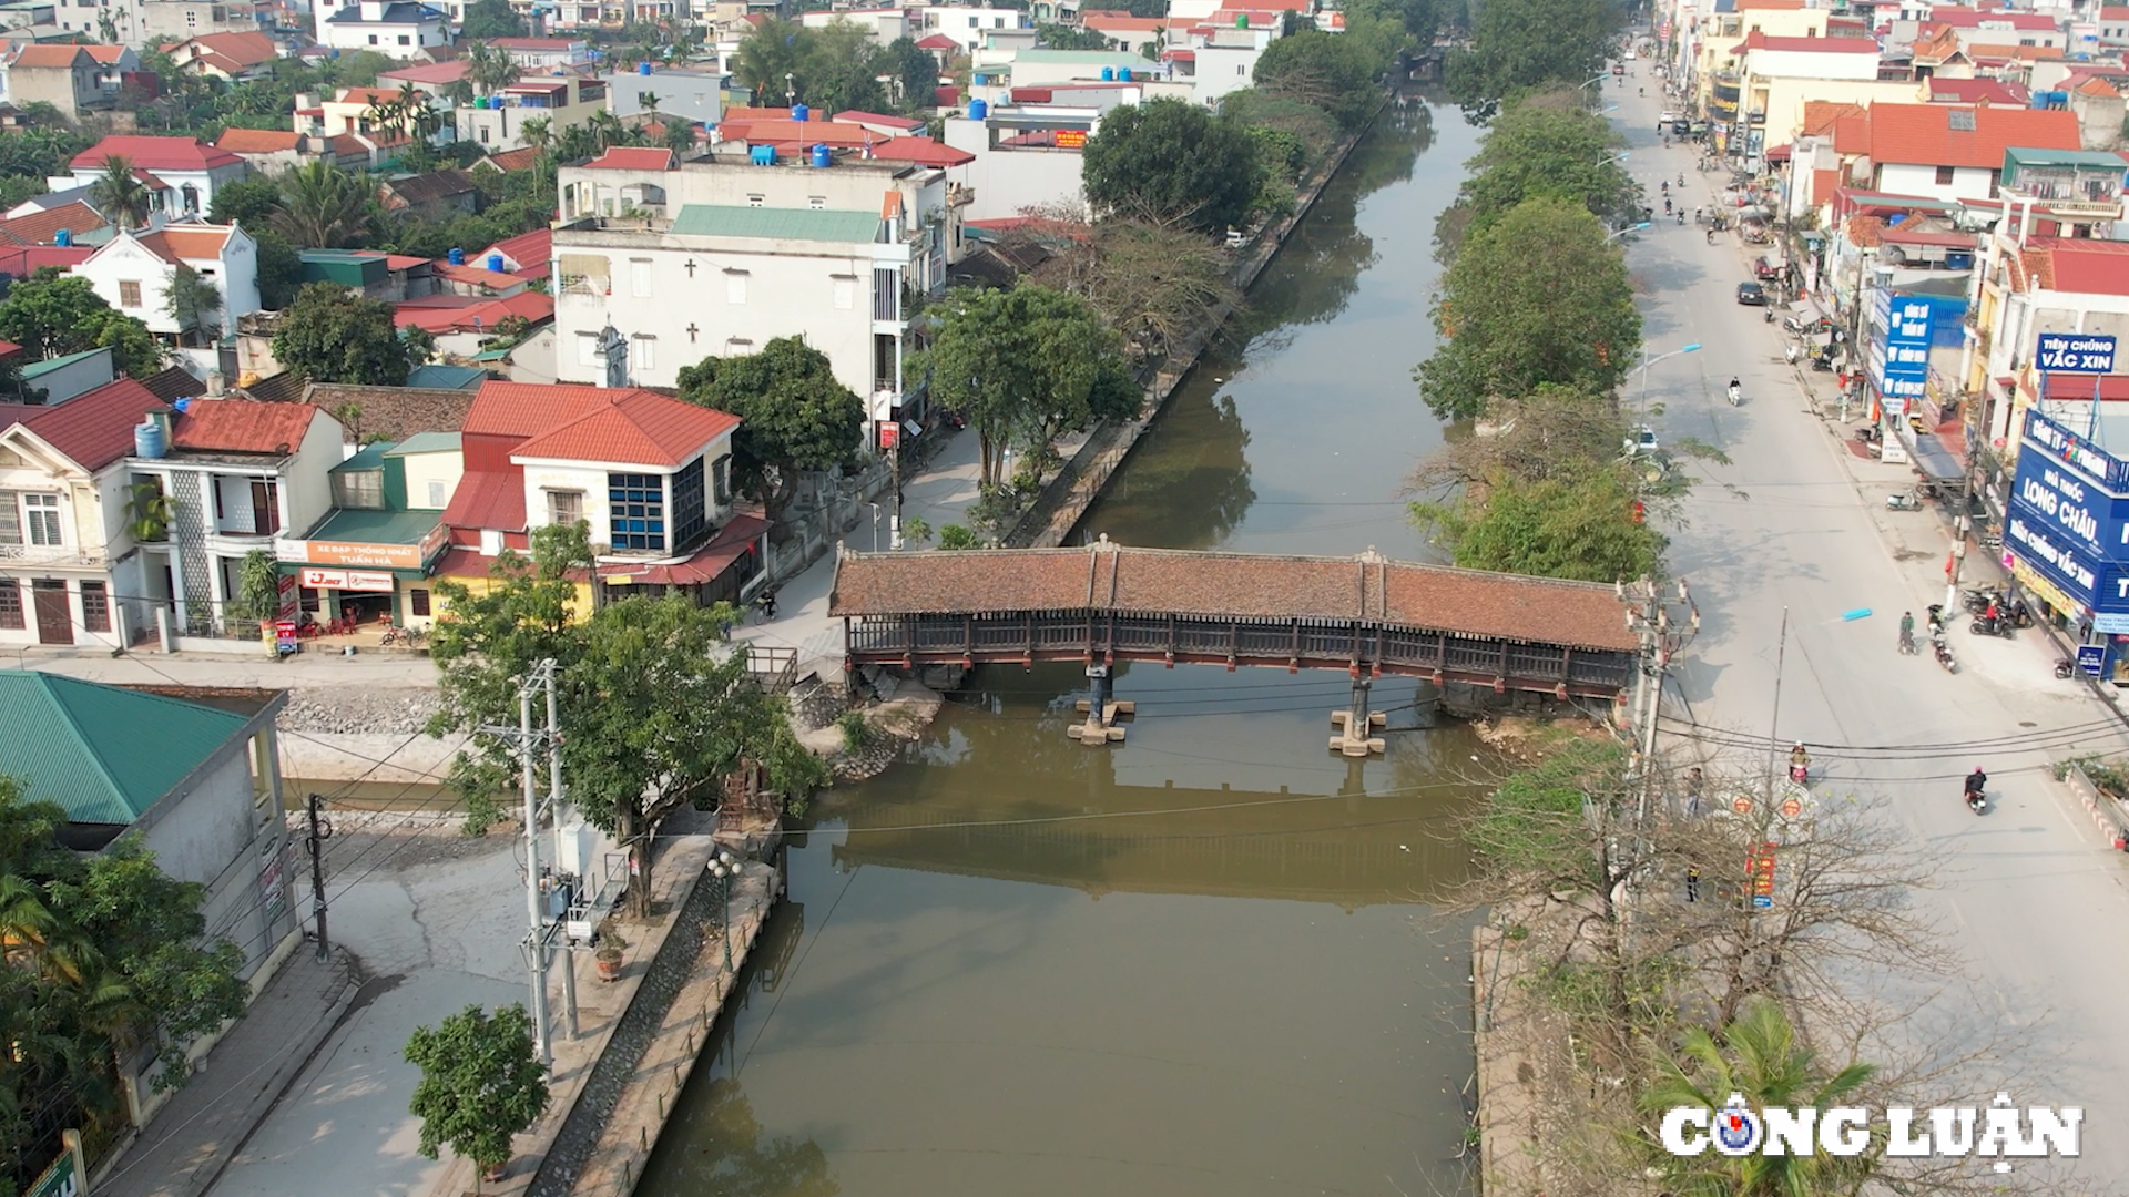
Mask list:
[[[126,458],[160,411],[136,379],[0,405],[0,643],[126,647],[153,630]]]

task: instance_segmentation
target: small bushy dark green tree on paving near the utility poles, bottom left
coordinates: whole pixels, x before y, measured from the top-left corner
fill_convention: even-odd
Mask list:
[[[547,1112],[547,1076],[532,1054],[532,1018],[479,1005],[434,1029],[415,1027],[402,1052],[422,1069],[407,1112],[422,1118],[422,1154],[449,1146],[483,1174],[511,1161],[511,1137]]]

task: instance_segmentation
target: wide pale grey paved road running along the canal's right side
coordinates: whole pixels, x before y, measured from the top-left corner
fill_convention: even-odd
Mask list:
[[[1627,92],[1648,85],[1635,64]],[[1627,164],[1656,194],[1656,179],[1688,207],[1710,202],[1724,175],[1701,175],[1693,153],[1661,149],[1658,96],[1624,96],[1614,117],[1633,143]],[[1661,211],[1661,198],[1654,204]],[[1778,628],[1788,613],[1780,737],[1829,745],[1944,748],[1908,760],[1833,760],[1833,788],[1882,803],[1912,841],[1946,863],[1946,884],[1918,897],[1967,963],[1944,1014],[1976,1014],[2014,1029],[2020,1103],[2084,1105],[2084,1165],[2067,1191],[2114,1188],[2129,1176],[2129,858],[2110,852],[2082,805],[2044,765],[2080,750],[2123,748],[2110,709],[2052,679],[2037,633],[1980,641],[1952,633],[1961,673],[1925,656],[1897,656],[1901,611],[1944,594],[1948,539],[1935,513],[1891,513],[1882,494],[1901,466],[1854,460],[1848,428],[1814,415],[1782,360],[1773,326],[1737,307],[1748,251],[1733,234],[1707,245],[1690,224],[1639,234],[1629,264],[1639,281],[1652,354],[1705,347],[1652,368],[1654,420],[1667,437],[1699,437],[1733,464],[1705,466],[1673,535],[1673,567],[1690,577],[1705,616],[1676,671],[1673,711],[1701,724],[1767,735],[1776,714]],[[1756,253],[1756,251],[1752,251]],[[1744,379],[1744,407],[1722,386]],[[1829,379],[1812,375],[1805,381]],[[1829,388],[1831,390],[1831,388]],[[1861,483],[1859,483],[1861,479]],[[1869,618],[1842,616],[1867,607]],[[2008,739],[2010,737],[2010,739]],[[2020,748],[2023,743],[2023,748]],[[1959,777],[1984,765],[2001,805],[1974,818]]]

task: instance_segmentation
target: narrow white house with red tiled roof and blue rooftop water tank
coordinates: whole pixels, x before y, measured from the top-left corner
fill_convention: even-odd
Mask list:
[[[255,641],[258,626],[228,613],[243,560],[324,518],[330,471],[343,458],[341,422],[309,403],[179,403],[162,417],[170,426],[164,454],[132,458],[132,473],[172,507],[168,539],[143,550],[147,594],[170,605],[179,635]]]

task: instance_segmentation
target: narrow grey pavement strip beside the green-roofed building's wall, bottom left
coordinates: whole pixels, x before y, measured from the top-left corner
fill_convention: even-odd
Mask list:
[[[94,1188],[109,1197],[198,1197],[287,1091],[356,1001],[345,952],[317,961],[298,944],[245,1016],[204,1056]]]

